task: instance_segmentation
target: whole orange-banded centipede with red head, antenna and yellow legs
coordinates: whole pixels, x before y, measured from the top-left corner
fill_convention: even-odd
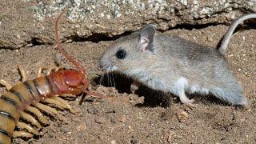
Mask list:
[[[23,82],[18,82],[14,86],[10,86],[6,81],[1,80],[0,83],[6,86],[6,91],[0,96],[1,144],[8,144],[12,142],[12,138],[16,137],[31,138],[38,135],[39,132],[34,127],[41,129],[42,124],[48,123],[43,112],[54,116],[58,115],[56,109],[42,102],[55,104],[72,112],[70,105],[59,96],[65,94],[74,97],[80,94],[83,97],[85,97],[84,95],[94,95],[89,90],[90,81],[86,77],[86,69],[67,54],[62,47],[58,25],[63,13],[64,11],[55,19],[55,47],[77,70],[50,70],[49,74],[40,76],[41,73],[39,73],[37,78],[24,79]],[[23,75],[24,70],[21,71],[22,78],[26,78]],[[26,122],[19,122],[20,118],[30,122],[33,126]]]

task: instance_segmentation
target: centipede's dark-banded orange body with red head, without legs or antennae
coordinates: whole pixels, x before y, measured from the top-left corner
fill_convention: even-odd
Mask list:
[[[54,95],[81,94],[85,86],[82,82],[84,79],[84,75],[77,70],[58,70],[47,76],[18,83],[2,94],[0,97],[0,143],[10,143],[18,119],[28,106]]]

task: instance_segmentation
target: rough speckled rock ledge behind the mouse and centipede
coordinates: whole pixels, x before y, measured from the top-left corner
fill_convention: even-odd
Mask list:
[[[53,43],[54,18],[66,8],[62,35],[68,41],[100,41],[153,23],[158,30],[230,23],[256,12],[254,0],[14,0],[0,5],[0,47]],[[95,38],[96,37],[96,40]]]

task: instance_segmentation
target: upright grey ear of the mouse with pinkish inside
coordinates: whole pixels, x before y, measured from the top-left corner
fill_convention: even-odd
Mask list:
[[[148,50],[154,41],[154,33],[156,26],[154,25],[146,25],[142,28],[139,39],[139,49],[144,52]]]

